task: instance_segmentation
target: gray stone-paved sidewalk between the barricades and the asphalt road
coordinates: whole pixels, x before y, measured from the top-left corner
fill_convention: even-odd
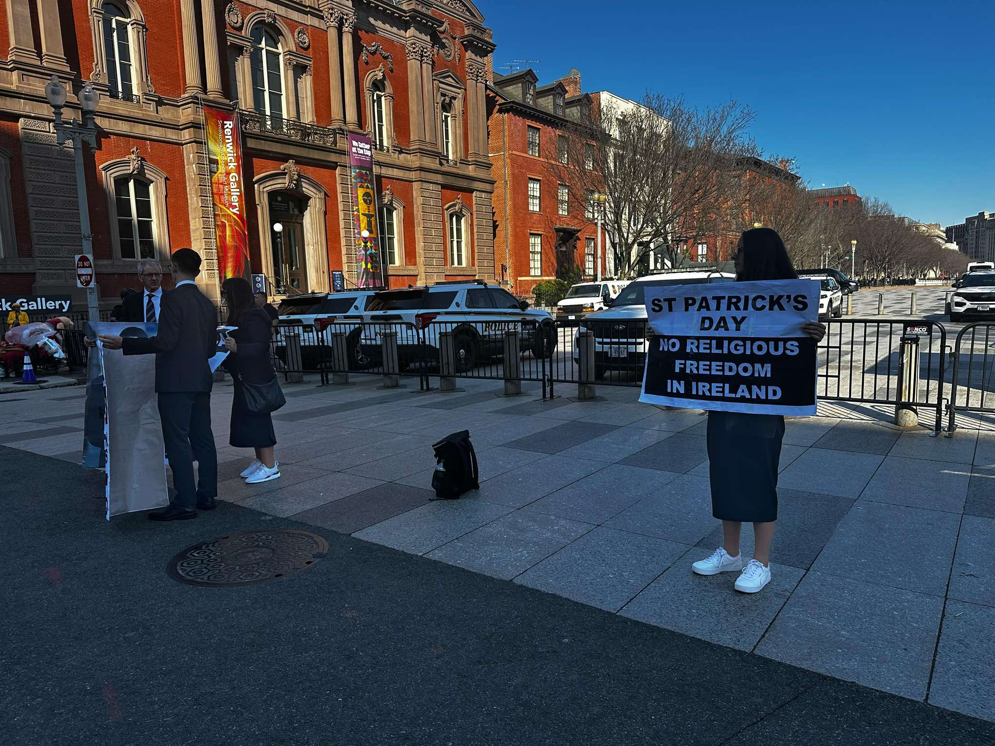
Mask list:
[[[901,433],[838,405],[837,417],[789,421],[773,581],[744,596],[731,576],[689,569],[720,542],[700,414],[604,386],[600,401],[541,402],[535,389],[498,396],[494,381],[441,394],[359,380],[287,388],[275,416],[284,476],[262,485],[244,484],[248,459],[224,447],[231,390],[219,387],[220,496],[995,720],[995,435]],[[83,391],[56,393],[0,410],[0,442],[78,460]],[[430,446],[464,428],[481,489],[430,502]],[[744,527],[744,551],[751,541]]]

